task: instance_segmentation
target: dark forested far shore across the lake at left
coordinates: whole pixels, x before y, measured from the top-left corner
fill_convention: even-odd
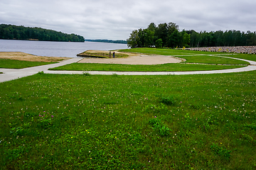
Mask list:
[[[85,42],[85,38],[73,33],[67,34],[37,27],[30,28],[6,24],[0,25],[0,39]]]

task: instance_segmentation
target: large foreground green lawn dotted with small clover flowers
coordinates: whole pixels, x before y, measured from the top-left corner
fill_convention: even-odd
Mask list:
[[[1,169],[255,169],[256,72],[0,83]]]

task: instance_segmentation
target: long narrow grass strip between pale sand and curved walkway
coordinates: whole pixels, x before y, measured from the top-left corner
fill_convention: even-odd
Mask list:
[[[235,69],[244,66],[238,65],[206,65],[206,64],[156,64],[156,65],[131,65],[131,64],[97,64],[97,63],[73,63],[51,70],[74,71],[119,71],[119,72],[172,72],[172,71],[199,71],[216,69]]]

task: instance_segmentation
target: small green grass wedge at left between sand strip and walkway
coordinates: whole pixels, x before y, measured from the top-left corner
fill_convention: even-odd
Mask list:
[[[54,64],[56,62],[27,62],[21,60],[0,59],[0,68],[5,69],[23,69],[26,67],[36,67],[47,64]]]

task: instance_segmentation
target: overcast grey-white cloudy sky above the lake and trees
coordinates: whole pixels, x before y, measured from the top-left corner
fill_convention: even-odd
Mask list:
[[[0,23],[108,40],[126,40],[149,23],[254,32],[255,7],[255,0],[0,0]]]

